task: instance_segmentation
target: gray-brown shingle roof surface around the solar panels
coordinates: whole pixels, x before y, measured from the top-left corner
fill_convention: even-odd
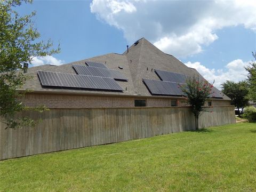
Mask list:
[[[104,63],[109,69],[119,70],[129,80],[117,81],[123,88],[123,92],[107,92],[106,91],[89,91],[89,90],[73,90],[73,89],[51,89],[41,86],[37,75],[37,70],[55,71],[60,73],[76,74],[72,65],[85,65],[85,61],[94,61]],[[123,69],[119,69],[121,66]],[[141,95],[151,96],[142,78],[159,80],[154,69],[171,71],[185,75],[198,75],[195,69],[191,69],[184,65],[181,61],[157,49],[153,44],[145,38],[139,39],[137,45],[129,47],[129,52],[123,54],[109,53],[97,57],[84,59],[81,61],[71,62],[60,66],[43,65],[31,67],[28,74],[34,76],[33,80],[26,82],[21,90],[32,89],[36,92],[55,92],[55,93],[79,93],[79,94],[108,94],[108,95]],[[229,99],[226,95],[223,99]]]

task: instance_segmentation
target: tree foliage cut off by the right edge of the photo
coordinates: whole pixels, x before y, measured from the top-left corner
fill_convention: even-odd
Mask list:
[[[245,67],[245,69],[249,72],[247,79],[249,83],[249,97],[256,102],[256,51],[254,53],[252,52],[252,56],[254,61],[252,60],[250,65]]]

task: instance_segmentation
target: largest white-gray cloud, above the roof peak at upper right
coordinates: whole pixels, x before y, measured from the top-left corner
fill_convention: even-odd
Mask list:
[[[146,37],[159,49],[186,57],[214,42],[218,29],[243,25],[256,31],[255,1],[101,1],[91,12],[133,43]]]

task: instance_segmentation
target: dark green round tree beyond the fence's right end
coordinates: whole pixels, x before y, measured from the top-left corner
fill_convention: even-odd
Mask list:
[[[240,108],[244,108],[248,105],[249,99],[247,98],[249,90],[246,81],[238,83],[232,81],[226,81],[221,84],[222,93],[226,94],[231,99],[231,105],[234,105],[238,109],[238,116],[240,116]]]

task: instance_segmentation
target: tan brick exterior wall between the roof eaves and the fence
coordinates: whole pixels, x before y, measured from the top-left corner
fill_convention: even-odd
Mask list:
[[[65,94],[26,94],[19,100],[28,107],[45,105],[48,108],[97,108],[97,107],[134,107],[134,99],[145,99],[147,107],[171,107],[175,99],[99,97]],[[178,106],[187,105],[185,100],[177,100]],[[229,101],[212,101],[213,106],[230,105]]]

